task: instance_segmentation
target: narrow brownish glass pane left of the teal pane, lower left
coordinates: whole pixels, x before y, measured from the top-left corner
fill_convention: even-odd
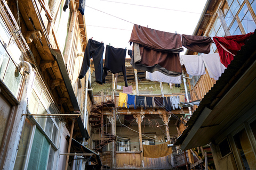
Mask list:
[[[32,124],[26,118],[25,124],[22,129],[21,137],[20,137],[17,157],[15,160],[14,168],[13,168],[14,170],[22,169],[25,164],[24,161],[27,157],[27,149],[28,149],[27,147],[28,147],[31,128],[32,128]]]

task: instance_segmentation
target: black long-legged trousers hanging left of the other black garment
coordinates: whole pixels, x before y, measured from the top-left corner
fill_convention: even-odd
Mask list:
[[[89,39],[85,48],[83,64],[78,77],[79,79],[83,79],[84,75],[88,71],[91,64],[90,58],[92,58],[95,68],[95,81],[102,84],[103,52],[104,43],[99,43],[98,41]]]

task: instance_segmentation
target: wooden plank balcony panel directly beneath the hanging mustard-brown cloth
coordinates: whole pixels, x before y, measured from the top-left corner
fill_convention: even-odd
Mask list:
[[[145,168],[170,168],[171,156],[165,156],[161,158],[146,158],[144,157]]]

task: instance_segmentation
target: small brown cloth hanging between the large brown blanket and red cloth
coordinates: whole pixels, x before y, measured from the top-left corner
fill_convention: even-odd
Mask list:
[[[210,53],[211,44],[214,43],[211,37],[189,36],[182,34],[182,46],[197,53]]]

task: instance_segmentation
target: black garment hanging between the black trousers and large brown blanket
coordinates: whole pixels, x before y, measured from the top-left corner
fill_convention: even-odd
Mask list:
[[[105,78],[108,75],[108,71],[116,74],[119,72],[123,73],[125,87],[128,87],[127,79],[126,79],[126,70],[125,70],[125,56],[126,49],[123,48],[114,48],[112,46],[106,46],[105,53],[105,64],[103,67],[103,82],[105,83]]]

